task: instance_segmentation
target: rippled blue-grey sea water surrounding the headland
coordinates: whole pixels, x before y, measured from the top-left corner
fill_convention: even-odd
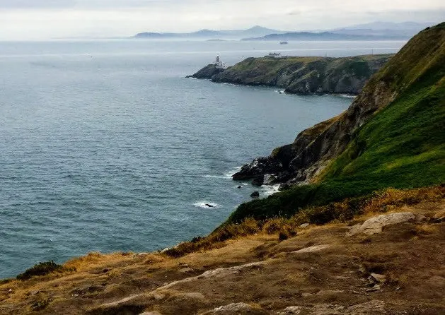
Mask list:
[[[233,64],[403,44],[0,42],[0,278],[207,234],[250,200],[254,188],[230,178],[237,167],[352,102],[185,78],[216,54]]]

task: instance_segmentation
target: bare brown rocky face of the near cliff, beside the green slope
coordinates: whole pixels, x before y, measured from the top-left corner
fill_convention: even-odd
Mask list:
[[[403,97],[413,83],[425,79],[425,73],[434,71],[438,80],[442,76],[439,83],[443,83],[444,42],[445,30],[440,25],[420,32],[369,80],[346,112],[299,133],[294,143],[275,149],[269,157],[260,157],[244,165],[233,179],[274,173],[272,182],[313,182],[356,138],[359,127],[376,112]],[[361,154],[363,143],[356,144],[354,154]]]

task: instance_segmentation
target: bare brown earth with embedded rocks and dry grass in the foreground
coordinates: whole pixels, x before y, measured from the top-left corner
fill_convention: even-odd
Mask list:
[[[89,254],[65,265],[77,271],[0,285],[0,314],[445,314],[445,201],[395,211],[417,219],[347,236],[368,215],[182,258]]]

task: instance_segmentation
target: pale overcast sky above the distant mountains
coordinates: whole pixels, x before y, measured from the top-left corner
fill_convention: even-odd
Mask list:
[[[262,25],[330,29],[376,20],[439,22],[444,0],[0,0],[0,40],[114,37]]]

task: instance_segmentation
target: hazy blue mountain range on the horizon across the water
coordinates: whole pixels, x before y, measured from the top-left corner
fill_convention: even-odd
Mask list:
[[[374,22],[328,31],[289,32],[254,26],[248,30],[198,30],[197,32],[141,32],[139,39],[196,40],[408,40],[430,23]]]

